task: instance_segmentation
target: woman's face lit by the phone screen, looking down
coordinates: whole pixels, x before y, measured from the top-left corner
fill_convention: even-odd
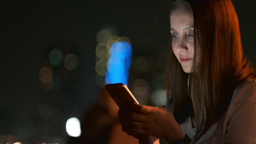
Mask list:
[[[193,14],[180,5],[170,14],[172,50],[185,73],[191,73],[194,58]]]

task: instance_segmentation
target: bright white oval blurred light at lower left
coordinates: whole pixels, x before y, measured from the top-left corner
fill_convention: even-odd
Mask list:
[[[69,118],[66,122],[66,131],[69,136],[79,137],[81,134],[80,121],[78,118]]]

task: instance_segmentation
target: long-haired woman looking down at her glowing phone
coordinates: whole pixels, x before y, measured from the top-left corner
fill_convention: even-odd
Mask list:
[[[167,110],[120,109],[123,131],[160,143],[256,143],[256,76],[231,0],[173,1],[170,27]]]

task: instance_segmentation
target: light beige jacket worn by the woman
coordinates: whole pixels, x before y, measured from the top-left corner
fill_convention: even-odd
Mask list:
[[[195,136],[191,118],[181,124],[184,133]],[[167,143],[160,139],[160,143]],[[233,143],[256,144],[256,80],[235,88],[225,115],[203,135],[196,144]]]

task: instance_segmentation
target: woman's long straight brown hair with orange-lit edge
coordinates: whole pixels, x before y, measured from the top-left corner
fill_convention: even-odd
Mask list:
[[[170,40],[167,94],[171,95],[169,102],[174,104],[174,117],[180,123],[184,118],[195,116],[196,141],[224,115],[234,88],[256,76],[243,56],[238,19],[231,0],[177,0],[172,2],[171,10],[179,4],[187,5],[194,16],[193,73],[184,73],[172,52]],[[180,114],[191,109],[193,112],[185,116]]]

